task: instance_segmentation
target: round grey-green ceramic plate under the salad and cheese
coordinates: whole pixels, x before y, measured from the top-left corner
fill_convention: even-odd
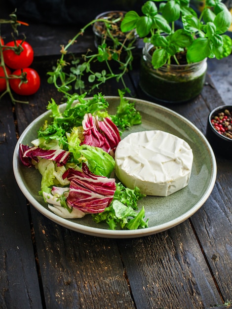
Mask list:
[[[110,103],[109,112],[114,114],[119,97],[106,97]],[[37,130],[45,119],[49,120],[50,111],[35,119],[22,133],[13,155],[13,170],[22,193],[44,216],[68,229],[100,237],[132,238],[154,234],[170,229],[191,217],[206,201],[216,181],[216,159],[204,135],[189,120],[179,114],[151,102],[130,99],[142,115],[142,124],[134,126],[127,134],[143,130],[163,130],[184,139],[193,149],[193,168],[189,185],[166,197],[146,196],[139,201],[139,208],[145,206],[149,228],[140,230],[108,229],[107,224],[94,223],[91,215],[82,219],[63,219],[51,212],[43,198],[38,194],[41,176],[34,168],[25,167],[19,158],[19,144],[31,145],[37,137]],[[64,105],[63,105],[64,107]]]

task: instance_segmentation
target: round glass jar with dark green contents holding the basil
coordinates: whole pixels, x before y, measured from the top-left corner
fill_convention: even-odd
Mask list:
[[[187,65],[167,65],[154,69],[151,43],[143,48],[140,68],[140,87],[157,101],[184,103],[196,97],[202,90],[207,71],[207,58]]]

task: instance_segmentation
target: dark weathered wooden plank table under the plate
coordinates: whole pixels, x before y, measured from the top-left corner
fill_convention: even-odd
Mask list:
[[[46,72],[60,43],[77,30],[44,25],[24,30],[35,49],[32,67],[39,72],[41,86],[28,97],[29,104],[12,105],[8,96],[0,102],[0,308],[232,308],[231,160],[217,156],[214,189],[190,219],[140,238],[73,232],[41,215],[19,190],[12,171],[17,138],[46,111],[51,98],[61,99],[47,83]],[[76,52],[91,44],[89,35]],[[138,86],[136,64],[126,82],[132,95],[153,101]],[[112,82],[100,90],[117,95],[118,87]],[[207,76],[196,99],[167,107],[205,134],[209,111],[222,104],[217,85]]]

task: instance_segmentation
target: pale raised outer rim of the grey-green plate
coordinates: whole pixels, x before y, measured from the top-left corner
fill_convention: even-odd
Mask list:
[[[86,98],[86,99],[91,99],[91,98]],[[106,100],[119,99],[119,96],[105,96],[105,99]],[[16,182],[17,182],[21,192],[28,199],[28,201],[46,218],[50,219],[51,221],[65,227],[67,229],[70,229],[70,230],[73,230],[73,231],[76,231],[76,232],[80,232],[80,233],[84,233],[84,234],[88,234],[88,235],[92,235],[92,236],[108,237],[108,238],[136,238],[136,237],[148,236],[148,235],[151,235],[151,234],[163,232],[163,231],[169,230],[169,229],[183,223],[184,221],[189,219],[197,210],[199,210],[199,208],[208,199],[209,195],[211,194],[211,192],[214,188],[215,182],[216,182],[217,163],[216,163],[216,158],[215,158],[214,152],[213,152],[208,140],[204,136],[204,134],[193,124],[193,122],[191,122],[186,117],[178,114],[175,111],[172,111],[171,109],[169,109],[167,107],[161,106],[157,103],[153,103],[153,102],[150,102],[150,101],[147,101],[147,100],[137,99],[137,98],[125,97],[125,99],[127,99],[129,101],[135,101],[136,100],[136,104],[142,103],[142,104],[145,104],[145,105],[154,106],[156,109],[160,109],[162,111],[167,111],[168,113],[171,113],[174,116],[178,116],[183,121],[185,121],[201,137],[201,139],[204,141],[204,144],[205,144],[209,154],[211,155],[210,161],[212,163],[212,169],[211,169],[212,173],[211,173],[211,177],[210,177],[210,183],[209,183],[209,186],[208,186],[207,190],[205,191],[204,195],[199,199],[199,201],[191,209],[189,209],[184,214],[178,216],[177,218],[172,219],[168,222],[153,226],[153,227],[148,227],[148,228],[139,229],[139,230],[109,230],[109,229],[89,227],[89,226],[85,226],[85,225],[82,225],[82,224],[78,224],[77,222],[70,221],[68,219],[62,218],[62,217],[54,214],[53,212],[51,212],[50,210],[48,210],[44,206],[42,206],[34,198],[34,196],[31,195],[28,192],[26,187],[23,185],[21,177],[17,173],[17,169],[18,169],[18,166],[20,164],[19,144],[21,143],[22,139],[26,136],[27,132],[30,129],[29,127],[31,125],[33,125],[33,123],[38,122],[39,119],[43,118],[46,114],[51,113],[51,111],[46,111],[46,112],[42,113],[40,116],[38,116],[37,118],[35,118],[24,129],[24,131],[20,135],[20,137],[19,137],[19,139],[18,139],[18,141],[15,145],[15,149],[14,149],[14,153],[13,153],[13,173],[14,173],[14,177],[16,179]],[[66,103],[60,104],[60,106],[65,106],[65,104]]]

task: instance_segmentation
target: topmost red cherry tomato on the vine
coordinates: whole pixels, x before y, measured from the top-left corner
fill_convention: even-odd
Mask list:
[[[16,45],[19,46],[21,42],[22,40],[20,39],[16,40]],[[6,43],[5,46],[15,46],[14,41]],[[14,70],[28,68],[32,64],[34,59],[34,50],[32,46],[24,41],[22,47],[23,51],[21,51],[19,55],[12,49],[3,50],[4,62],[9,68]]]

